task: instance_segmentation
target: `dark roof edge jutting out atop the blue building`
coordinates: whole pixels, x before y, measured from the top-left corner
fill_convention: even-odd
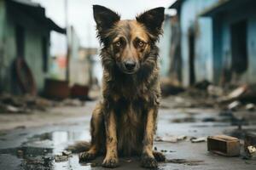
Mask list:
[[[214,16],[232,8],[240,8],[242,4],[249,2],[251,3],[253,0],[219,0],[218,3],[214,3],[211,7],[203,10],[200,15]]]

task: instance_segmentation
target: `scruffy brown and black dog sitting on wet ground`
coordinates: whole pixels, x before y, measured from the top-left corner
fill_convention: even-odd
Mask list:
[[[102,167],[118,167],[118,156],[142,156],[142,167],[158,167],[165,156],[153,150],[160,105],[159,49],[164,8],[120,20],[109,8],[93,5],[102,44],[102,100],[90,120],[91,142],[79,161],[105,155]]]

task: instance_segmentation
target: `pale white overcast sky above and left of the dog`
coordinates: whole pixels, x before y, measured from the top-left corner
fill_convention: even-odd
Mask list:
[[[46,8],[46,15],[61,27],[65,22],[65,0],[32,0]],[[96,39],[92,5],[100,4],[117,11],[122,19],[133,19],[149,8],[169,7],[175,0],[67,0],[68,24],[74,26],[82,47],[99,47]],[[51,54],[65,52],[65,38],[51,34]]]

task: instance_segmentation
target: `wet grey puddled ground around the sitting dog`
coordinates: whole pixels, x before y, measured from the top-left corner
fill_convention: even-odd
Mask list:
[[[167,161],[160,163],[159,169],[255,169],[256,161],[244,160],[242,155],[231,158],[218,156],[207,152],[207,142],[190,141],[192,137],[206,138],[220,133],[241,137],[242,131],[237,130],[237,122],[229,112],[219,114],[217,109],[196,107],[172,109],[167,105],[167,101],[164,103],[166,105],[160,109],[154,149],[164,152]],[[55,160],[55,156],[60,155],[68,144],[79,140],[90,140],[90,112],[95,104],[91,102],[83,108],[74,107],[73,116],[68,116],[65,121],[63,116],[67,116],[66,114],[61,114],[62,118],[55,116],[52,120],[45,118],[50,117],[46,115],[44,118],[41,117],[44,121],[38,123],[38,126],[34,118],[32,121],[35,123],[28,123],[29,126],[0,131],[0,169],[103,169],[102,157],[82,164],[79,163],[76,154],[64,157],[65,159],[60,162]],[[84,111],[84,113],[75,114],[76,111]],[[250,121],[243,124],[246,125],[242,126],[242,129],[256,129]],[[125,157],[120,158],[119,161],[118,169],[141,168],[139,157]]]

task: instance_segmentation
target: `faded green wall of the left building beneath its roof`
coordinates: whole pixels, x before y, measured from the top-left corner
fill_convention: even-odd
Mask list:
[[[0,1],[1,3],[4,1]],[[38,92],[44,88],[43,53],[42,39],[45,37],[49,42],[49,31],[41,26],[36,20],[22,13],[21,11],[5,11],[0,14],[3,17],[3,36],[0,33],[0,42],[3,44],[3,67],[1,68],[1,80],[4,84],[2,90],[9,93],[19,93],[16,90],[16,82],[13,77],[13,64],[17,57],[15,26],[20,25],[25,30],[25,59],[32,70],[33,77],[37,83]],[[1,19],[0,19],[1,20]],[[0,21],[1,22],[1,21]],[[0,28],[1,29],[1,28]],[[1,31],[0,31],[1,32]],[[49,48],[47,51],[49,57]]]

